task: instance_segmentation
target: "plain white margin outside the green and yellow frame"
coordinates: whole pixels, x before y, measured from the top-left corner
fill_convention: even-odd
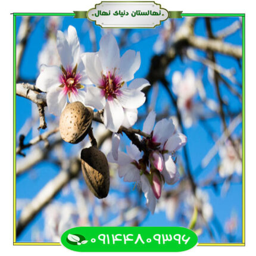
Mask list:
[[[19,0],[1,2],[0,30],[0,254],[2,255],[78,255],[63,246],[13,246],[13,15],[11,13],[71,13],[86,11],[100,0],[52,1]],[[246,246],[198,246],[179,254],[188,255],[255,255],[255,13],[253,1],[230,0],[182,0],[156,1],[163,8],[183,13],[245,13],[246,14]],[[151,254],[153,254],[152,252]],[[87,253],[93,254],[95,253]],[[96,254],[99,254],[96,253]],[[112,254],[111,252],[108,254]],[[121,253],[118,253],[118,255]],[[131,254],[131,253],[130,253]],[[133,252],[133,255],[148,254]],[[131,255],[132,255],[131,254]],[[169,253],[168,253],[169,254]],[[127,255],[127,254],[125,254]]]

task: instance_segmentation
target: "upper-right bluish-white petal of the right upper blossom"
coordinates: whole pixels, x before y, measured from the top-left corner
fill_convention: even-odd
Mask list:
[[[120,58],[120,65],[118,74],[122,77],[123,81],[130,81],[134,78],[135,72],[141,65],[141,54],[133,50],[124,52]]]

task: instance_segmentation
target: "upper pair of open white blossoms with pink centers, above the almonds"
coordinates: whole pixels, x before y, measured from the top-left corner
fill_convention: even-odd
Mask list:
[[[117,41],[110,33],[101,38],[99,46],[99,52],[82,54],[76,29],[69,26],[67,36],[58,30],[61,67],[41,65],[36,86],[47,93],[50,113],[60,115],[67,99],[80,101],[103,110],[105,126],[117,132],[121,125],[130,127],[137,121],[137,108],[145,102],[141,90],[149,83],[133,80],[141,65],[139,52],[128,50],[120,57]]]

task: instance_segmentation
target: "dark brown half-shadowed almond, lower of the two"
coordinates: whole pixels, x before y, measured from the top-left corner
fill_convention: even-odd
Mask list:
[[[98,198],[105,198],[110,191],[110,169],[105,155],[96,146],[84,148],[81,164],[90,191]]]

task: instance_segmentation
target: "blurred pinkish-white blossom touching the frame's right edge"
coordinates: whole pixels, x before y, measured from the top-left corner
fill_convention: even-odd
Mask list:
[[[238,152],[233,148],[230,141],[227,141],[225,145],[220,147],[218,154],[220,155],[221,162],[218,170],[220,177],[228,177],[233,173],[242,173],[242,146],[236,141],[236,148]],[[238,157],[240,155],[240,158]]]

